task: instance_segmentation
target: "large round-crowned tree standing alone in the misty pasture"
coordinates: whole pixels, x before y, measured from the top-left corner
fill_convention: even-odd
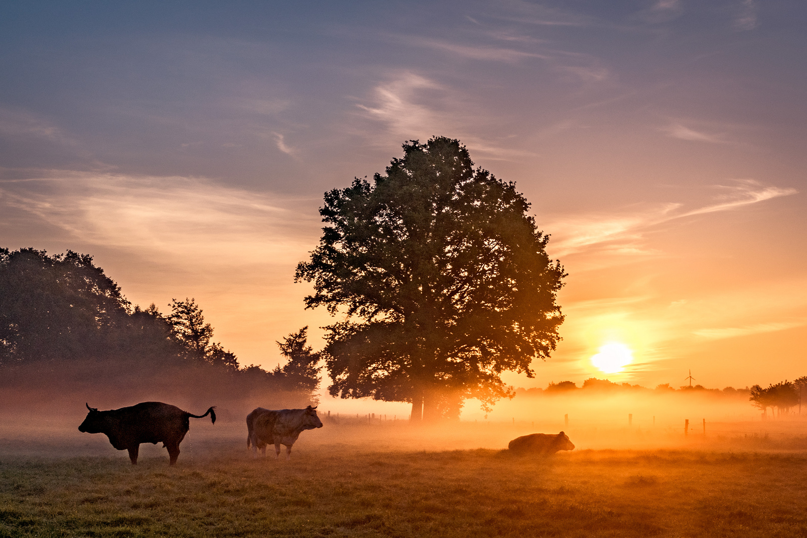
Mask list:
[[[372,184],[326,193],[328,226],[296,280],[314,283],[307,308],[345,315],[327,327],[330,393],[435,419],[511,396],[504,371],[533,377],[559,340],[565,274],[528,211],[514,183],[445,137],[403,144]]]

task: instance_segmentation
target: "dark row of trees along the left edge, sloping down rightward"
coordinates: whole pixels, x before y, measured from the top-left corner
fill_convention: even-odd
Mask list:
[[[266,371],[240,365],[215,342],[193,298],[168,307],[132,307],[92,256],[0,248],[0,385],[35,376],[316,401],[320,355],[307,345],[307,327],[278,342],[286,365]]]

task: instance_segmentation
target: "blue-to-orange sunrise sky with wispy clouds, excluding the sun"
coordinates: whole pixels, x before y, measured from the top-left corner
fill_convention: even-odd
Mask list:
[[[449,136],[568,273],[557,351],[505,381],[792,380],[805,22],[798,0],[3,2],[0,246],[90,254],[142,307],[193,297],[271,368],[332,323],[293,277],[324,192]]]

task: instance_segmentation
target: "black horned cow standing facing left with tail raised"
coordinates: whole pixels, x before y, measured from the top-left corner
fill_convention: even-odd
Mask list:
[[[87,418],[78,427],[79,432],[102,433],[118,450],[129,451],[132,465],[137,465],[140,443],[157,444],[168,448],[170,465],[177,463],[179,444],[190,428],[190,417],[203,419],[210,415],[215,424],[215,409],[211,407],[204,415],[191,415],[179,407],[163,402],[142,402],[132,407],[112,411],[98,411],[86,404]]]

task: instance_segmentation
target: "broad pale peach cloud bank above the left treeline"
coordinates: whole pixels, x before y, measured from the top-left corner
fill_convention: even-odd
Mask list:
[[[194,177],[53,171],[0,182],[3,206],[85,244],[183,263],[204,256],[207,265],[294,263],[316,242],[320,226],[315,200]]]

